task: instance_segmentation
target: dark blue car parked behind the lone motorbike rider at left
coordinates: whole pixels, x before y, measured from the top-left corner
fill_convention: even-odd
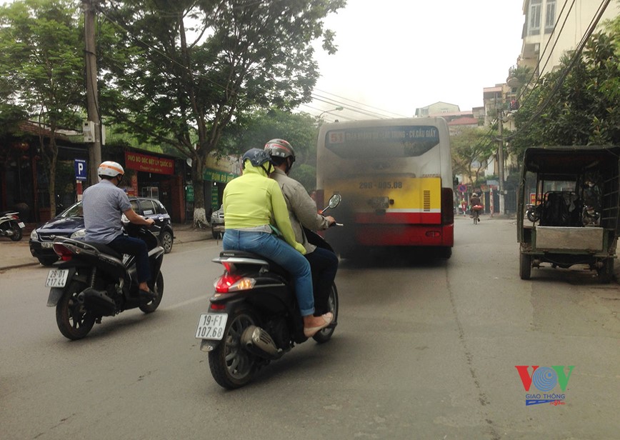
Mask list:
[[[137,214],[148,219],[154,219],[155,224],[161,228],[159,243],[164,248],[164,252],[168,254],[172,250],[174,232],[172,231],[172,221],[164,205],[159,200],[144,197],[130,197],[129,201],[131,208]],[[44,266],[51,266],[58,260],[58,256],[51,247],[56,237],[84,238],[84,214],[81,201],[62,211],[61,214],[43,226],[34,229],[30,234],[30,253],[39,259],[39,262]]]

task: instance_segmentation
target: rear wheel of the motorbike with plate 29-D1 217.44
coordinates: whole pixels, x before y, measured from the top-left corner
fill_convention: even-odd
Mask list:
[[[56,324],[61,334],[76,341],[89,334],[95,324],[95,316],[79,304],[77,296],[86,289],[86,284],[71,281],[56,304]]]

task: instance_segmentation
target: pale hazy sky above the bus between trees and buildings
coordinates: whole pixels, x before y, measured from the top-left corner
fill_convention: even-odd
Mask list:
[[[484,87],[506,82],[521,51],[523,0],[347,3],[326,19],[326,27],[336,31],[338,52],[327,55],[317,45],[317,99],[300,107],[310,114],[343,105],[412,116],[417,107],[437,101],[470,110],[482,106]],[[319,101],[329,101],[325,98],[344,104]],[[324,118],[346,116],[371,117],[332,111]]]

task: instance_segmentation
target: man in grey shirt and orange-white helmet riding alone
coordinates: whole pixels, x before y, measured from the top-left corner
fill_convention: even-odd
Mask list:
[[[150,301],[154,299],[154,294],[148,285],[151,279],[149,251],[144,240],[124,234],[121,216],[125,214],[131,223],[145,226],[151,226],[155,221],[136,214],[129,197],[119,188],[125,174],[121,164],[104,161],[99,165],[97,174],[101,179],[99,183],[89,186],[82,196],[85,239],[106,244],[120,254],[136,256],[138,288],[144,299]]]

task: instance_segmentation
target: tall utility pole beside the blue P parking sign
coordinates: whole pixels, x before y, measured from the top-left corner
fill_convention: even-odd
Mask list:
[[[99,91],[97,90],[97,57],[95,46],[95,7],[99,0],[82,0],[84,8],[84,41],[86,49],[86,104],[89,121],[94,123],[93,141],[89,144],[89,181],[97,182],[97,167],[101,164],[101,116],[99,115]]]

